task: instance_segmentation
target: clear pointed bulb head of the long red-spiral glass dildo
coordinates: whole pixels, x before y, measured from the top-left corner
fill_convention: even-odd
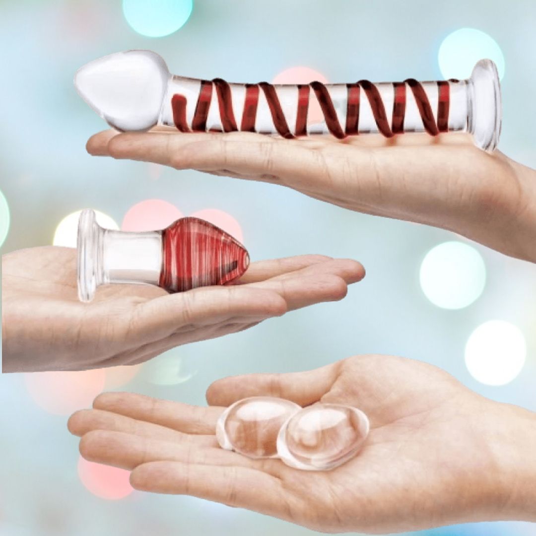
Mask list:
[[[75,88],[113,128],[145,131],[158,123],[170,76],[158,54],[127,50],[80,67]]]

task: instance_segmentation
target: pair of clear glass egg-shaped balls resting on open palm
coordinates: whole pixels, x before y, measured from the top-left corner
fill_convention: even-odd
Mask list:
[[[250,397],[229,406],[218,419],[222,449],[249,458],[280,458],[306,471],[329,471],[361,449],[369,433],[361,410],[339,404],[302,408],[290,400]]]

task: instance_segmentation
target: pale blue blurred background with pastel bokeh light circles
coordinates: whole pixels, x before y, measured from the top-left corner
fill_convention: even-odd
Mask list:
[[[92,158],[86,140],[106,125],[73,88],[79,66],[147,48],[185,76],[293,81],[307,68],[348,82],[464,78],[490,57],[503,75],[500,150],[536,167],[535,20],[533,0],[1,0],[2,254],[73,245],[76,215],[64,218],[85,207],[109,226],[128,228],[135,214],[150,222],[162,205],[147,201],[156,199],[169,214],[203,211],[242,233],[253,259],[352,257],[367,277],[343,302],[140,367],[1,375],[0,535],[312,534],[196,498],[133,492],[126,472],[80,461],[66,418],[102,390],[204,404],[205,389],[222,376],[304,370],[370,352],[436,364],[487,397],[536,410],[535,266],[444,230],[347,212],[275,185]],[[419,534],[527,536],[536,527],[481,523]]]

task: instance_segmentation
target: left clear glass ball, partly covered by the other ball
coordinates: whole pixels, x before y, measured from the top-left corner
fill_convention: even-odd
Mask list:
[[[282,398],[244,398],[220,415],[216,438],[221,448],[249,458],[276,458],[279,430],[300,410],[299,405]]]

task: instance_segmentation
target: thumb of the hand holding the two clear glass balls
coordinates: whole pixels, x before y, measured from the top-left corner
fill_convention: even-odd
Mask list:
[[[331,389],[339,374],[340,363],[306,372],[248,374],[219,379],[207,389],[206,400],[211,406],[229,406],[242,398],[270,396],[308,406]]]

